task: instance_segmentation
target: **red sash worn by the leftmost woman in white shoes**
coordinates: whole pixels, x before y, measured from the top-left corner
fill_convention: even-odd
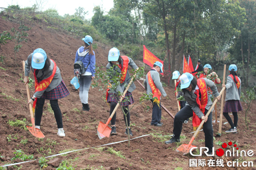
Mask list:
[[[52,60],[52,61],[54,62],[54,60]],[[37,78],[36,78],[35,71],[37,69],[34,69],[34,80],[35,80],[34,87],[35,87],[35,92],[39,92],[39,91],[43,91],[43,90],[47,89],[47,87],[51,84],[51,82],[52,82],[52,80],[54,78],[56,69],[57,69],[57,65],[54,62],[54,70],[53,70],[52,75],[50,77],[46,78],[46,79],[43,79],[42,81],[40,81],[40,83],[38,83]],[[35,100],[33,102],[33,111],[35,109],[36,102],[37,102],[37,98],[35,98]]]

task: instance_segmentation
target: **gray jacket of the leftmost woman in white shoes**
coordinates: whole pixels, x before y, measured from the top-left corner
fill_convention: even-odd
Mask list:
[[[25,76],[29,76],[30,68],[32,69],[32,72],[34,73],[34,68],[31,67],[32,55],[33,55],[33,53],[31,53],[27,57],[27,60],[25,62]],[[51,65],[50,65],[49,69],[47,70],[47,72],[42,72],[42,70],[39,70],[36,77],[46,79],[52,75],[53,70],[54,70],[54,62],[51,60]],[[33,75],[33,77],[34,77],[34,75]],[[56,72],[54,74],[54,78],[53,78],[52,82],[50,83],[50,85],[47,87],[47,89],[44,91],[35,92],[34,96],[36,98],[40,98],[45,91],[49,92],[49,91],[53,90],[55,87],[57,87],[61,83],[61,80],[62,80],[61,71],[60,71],[59,67],[57,66]]]

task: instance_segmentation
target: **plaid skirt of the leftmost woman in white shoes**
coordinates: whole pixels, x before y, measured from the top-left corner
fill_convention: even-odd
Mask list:
[[[47,100],[56,100],[60,98],[65,98],[69,95],[69,92],[67,90],[67,87],[63,80],[61,80],[61,83],[55,87],[53,90],[49,92],[44,92],[41,98],[47,99]]]

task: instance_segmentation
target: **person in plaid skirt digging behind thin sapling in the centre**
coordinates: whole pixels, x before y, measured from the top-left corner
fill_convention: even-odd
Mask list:
[[[108,72],[109,76],[115,75],[116,73],[121,74],[120,78],[120,84],[117,86],[116,89],[113,89],[109,87],[107,91],[107,103],[110,103],[110,111],[109,114],[114,111],[115,106],[118,103],[118,93],[123,94],[125,90],[125,85],[129,84],[129,81],[131,79],[130,74],[128,72],[128,65],[130,65],[133,69],[138,69],[139,67],[135,64],[133,59],[127,57],[127,56],[121,56],[120,52],[117,48],[113,47],[108,52],[108,64],[106,66],[107,71],[110,69],[110,67],[113,67],[114,72]],[[112,82],[109,82],[110,84]],[[136,86],[134,83],[130,85],[128,88],[128,92],[125,94],[125,96],[122,96],[123,98],[128,98],[128,100],[124,100],[121,102],[121,107],[125,114],[127,114],[127,122],[128,122],[128,129],[126,128],[125,134],[128,135],[128,131],[130,136],[133,136],[133,133],[130,129],[130,113],[128,106],[134,103],[134,99],[132,96],[132,93],[135,90]],[[123,114],[124,115],[124,114]],[[110,135],[116,135],[116,126],[115,126],[115,120],[116,120],[116,113],[114,114],[113,118],[111,119],[111,132]],[[125,120],[125,115],[124,115]]]

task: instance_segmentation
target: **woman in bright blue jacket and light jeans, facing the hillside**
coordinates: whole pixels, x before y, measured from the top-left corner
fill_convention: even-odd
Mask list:
[[[89,35],[82,39],[84,46],[81,46],[75,54],[74,62],[81,60],[86,71],[79,76],[79,98],[82,103],[83,111],[89,111],[88,93],[91,81],[95,78],[95,52],[93,51],[93,38]]]

